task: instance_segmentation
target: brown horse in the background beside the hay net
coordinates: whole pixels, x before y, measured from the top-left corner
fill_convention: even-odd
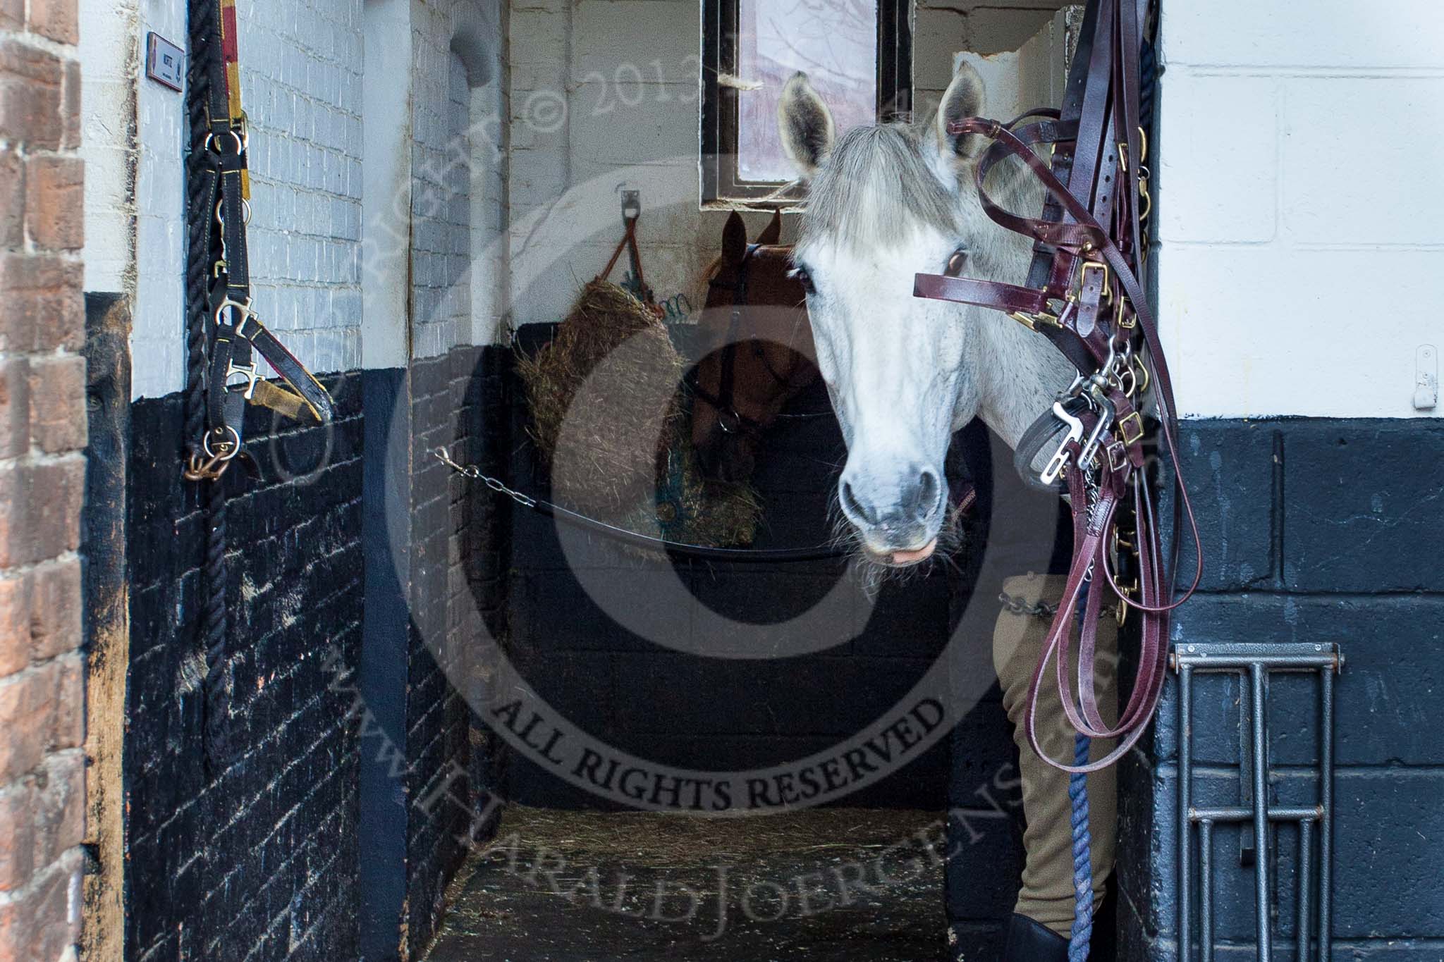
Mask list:
[[[702,361],[689,378],[692,443],[708,477],[745,482],[762,433],[817,381],[807,293],[781,247],[783,218],[755,242],[736,212],[722,231],[722,255],[708,280]]]

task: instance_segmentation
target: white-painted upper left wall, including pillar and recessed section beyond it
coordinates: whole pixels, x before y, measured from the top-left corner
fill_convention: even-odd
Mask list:
[[[507,247],[503,7],[238,6],[256,306],[316,374],[495,337]],[[87,290],[133,299],[133,395],[172,394],[185,382],[185,102],[143,79],[143,49],[149,30],[185,46],[185,10],[81,0],[81,13]],[[474,124],[490,131],[485,143]],[[449,169],[456,144],[466,156]]]

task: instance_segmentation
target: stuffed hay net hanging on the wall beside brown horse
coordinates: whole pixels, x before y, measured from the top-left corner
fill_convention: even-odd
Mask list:
[[[752,542],[761,502],[749,486],[702,477],[679,392],[686,362],[628,291],[591,281],[517,371],[531,436],[569,508],[671,541]]]

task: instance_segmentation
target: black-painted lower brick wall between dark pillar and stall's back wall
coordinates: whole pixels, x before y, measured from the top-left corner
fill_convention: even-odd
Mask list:
[[[412,365],[412,637],[407,668],[407,939],[427,945],[461,867],[472,813],[491,785],[484,731],[455,685],[466,684],[471,639],[503,610],[505,551],[498,502],[430,456],[465,464],[505,453],[503,349],[459,348]],[[474,744],[475,743],[475,744]],[[474,751],[474,747],[477,749]],[[475,757],[474,757],[475,756]],[[445,796],[445,802],[432,799]],[[479,800],[479,805],[478,805]]]

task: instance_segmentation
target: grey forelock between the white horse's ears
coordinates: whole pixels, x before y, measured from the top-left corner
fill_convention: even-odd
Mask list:
[[[962,231],[957,199],[927,163],[926,124],[855,127],[833,147],[807,192],[803,237],[827,237],[855,251],[908,239],[923,224]]]

